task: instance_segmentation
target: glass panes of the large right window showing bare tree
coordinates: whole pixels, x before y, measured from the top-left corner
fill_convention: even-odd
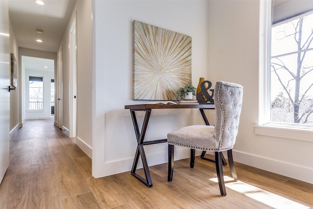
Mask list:
[[[270,51],[270,121],[313,125],[313,11],[272,24]]]

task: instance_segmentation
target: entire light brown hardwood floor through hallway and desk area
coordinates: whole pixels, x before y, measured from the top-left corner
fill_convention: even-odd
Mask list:
[[[236,159],[234,159],[236,160]],[[308,159],[310,160],[310,159]],[[311,159],[312,160],[312,159]],[[301,209],[313,207],[313,185],[235,163],[239,181],[224,166],[220,195],[215,164],[196,158],[151,166],[153,187],[130,172],[95,179],[91,159],[53,121],[26,120],[10,140],[10,164],[0,185],[1,209]],[[139,169],[138,172],[142,172]]]

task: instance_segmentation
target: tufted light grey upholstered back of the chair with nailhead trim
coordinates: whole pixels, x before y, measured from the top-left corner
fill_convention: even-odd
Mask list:
[[[238,133],[239,116],[243,100],[243,87],[218,81],[214,90],[215,138],[218,150],[232,149]]]

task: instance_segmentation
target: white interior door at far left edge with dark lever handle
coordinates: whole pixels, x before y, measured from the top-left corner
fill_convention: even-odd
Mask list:
[[[9,166],[10,67],[8,1],[0,0],[0,182]]]

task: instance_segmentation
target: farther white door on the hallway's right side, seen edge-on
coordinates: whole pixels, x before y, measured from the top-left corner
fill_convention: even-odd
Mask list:
[[[63,48],[58,53],[58,72],[57,72],[57,87],[58,87],[58,127],[63,127]]]

